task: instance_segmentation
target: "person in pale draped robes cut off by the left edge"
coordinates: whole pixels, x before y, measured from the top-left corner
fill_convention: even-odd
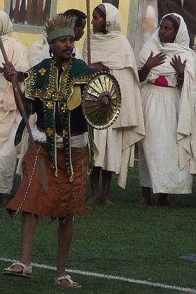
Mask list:
[[[13,25],[8,15],[0,10],[0,35],[6,49],[8,59],[18,71],[29,68],[25,48],[15,38],[10,37]],[[0,52],[0,66],[4,62]],[[13,185],[13,173],[17,160],[14,146],[15,132],[21,116],[17,111],[13,89],[0,73],[0,195],[9,194]],[[2,196],[2,195],[1,195]],[[0,198],[1,198],[0,196]]]

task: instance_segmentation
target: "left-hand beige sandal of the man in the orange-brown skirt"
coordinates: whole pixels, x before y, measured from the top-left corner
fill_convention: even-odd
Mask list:
[[[21,272],[15,271],[14,267],[16,265],[22,267]],[[10,276],[20,276],[22,278],[31,279],[32,267],[31,265],[24,265],[24,263],[21,262],[14,262],[12,265],[10,265],[10,267],[3,269],[2,274],[8,274]]]

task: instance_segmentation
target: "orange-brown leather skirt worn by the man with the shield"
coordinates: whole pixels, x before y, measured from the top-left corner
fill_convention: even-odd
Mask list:
[[[58,177],[51,168],[46,146],[37,144],[39,156],[45,163],[48,177],[48,193],[45,193],[34,169],[35,153],[29,146],[22,162],[23,178],[15,197],[8,204],[8,212],[14,216],[18,211],[26,211],[37,216],[62,218],[66,214],[82,214],[86,208],[87,165],[86,149],[71,148],[74,179],[69,178],[64,167],[64,151],[57,149]],[[31,181],[30,181],[31,179]]]

